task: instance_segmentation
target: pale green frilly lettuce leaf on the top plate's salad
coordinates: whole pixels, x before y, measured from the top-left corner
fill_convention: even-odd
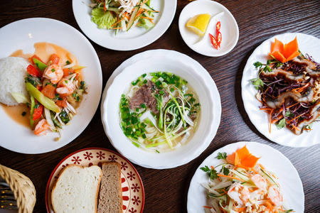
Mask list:
[[[110,30],[112,24],[116,22],[116,19],[112,16],[110,11],[103,11],[103,9],[96,8],[92,10],[92,21],[95,22],[98,28],[105,28]]]

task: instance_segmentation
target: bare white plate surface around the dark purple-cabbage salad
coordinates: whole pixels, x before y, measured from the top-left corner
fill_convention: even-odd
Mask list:
[[[250,80],[257,77],[258,70],[253,65],[254,62],[260,61],[262,63],[267,62],[268,53],[270,53],[271,43],[274,43],[274,38],[281,40],[282,43],[288,43],[297,36],[299,50],[305,55],[308,53],[311,55],[316,62],[320,62],[320,39],[315,38],[311,35],[306,35],[302,33],[285,33],[282,35],[275,35],[272,38],[265,40],[261,45],[259,45],[255,51],[253,51],[250,58],[247,60],[245,69],[242,75],[242,100],[245,106],[245,111],[249,116],[252,124],[255,125],[258,131],[264,136],[279,143],[283,146],[291,147],[306,147],[313,146],[320,143],[320,123],[315,122],[312,126],[312,131],[302,133],[301,135],[295,135],[290,129],[283,128],[277,129],[274,124],[271,125],[271,133],[269,131],[269,116],[265,111],[259,109],[261,103],[256,99],[257,89],[253,86]]]

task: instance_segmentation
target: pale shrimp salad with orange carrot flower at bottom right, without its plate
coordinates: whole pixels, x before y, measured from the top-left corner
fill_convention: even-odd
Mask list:
[[[201,168],[209,181],[202,183],[207,189],[208,203],[204,209],[212,212],[292,212],[284,202],[275,175],[265,169],[244,146],[231,155],[218,153],[221,163]]]

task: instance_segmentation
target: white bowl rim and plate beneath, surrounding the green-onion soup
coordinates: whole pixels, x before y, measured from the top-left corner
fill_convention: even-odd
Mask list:
[[[176,73],[186,79],[193,89],[201,91],[197,92],[201,103],[201,119],[196,134],[181,148],[165,153],[151,153],[137,148],[124,136],[119,126],[117,103],[124,92],[123,85],[129,85],[139,75],[155,70]],[[188,163],[206,150],[220,124],[220,95],[215,82],[198,62],[173,50],[149,50],[123,62],[107,82],[102,103],[102,124],[112,145],[133,163],[145,168],[174,168]]]

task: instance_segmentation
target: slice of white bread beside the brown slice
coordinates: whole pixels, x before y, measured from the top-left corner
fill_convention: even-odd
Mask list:
[[[53,186],[51,201],[55,213],[97,212],[102,170],[97,165],[68,165]]]

